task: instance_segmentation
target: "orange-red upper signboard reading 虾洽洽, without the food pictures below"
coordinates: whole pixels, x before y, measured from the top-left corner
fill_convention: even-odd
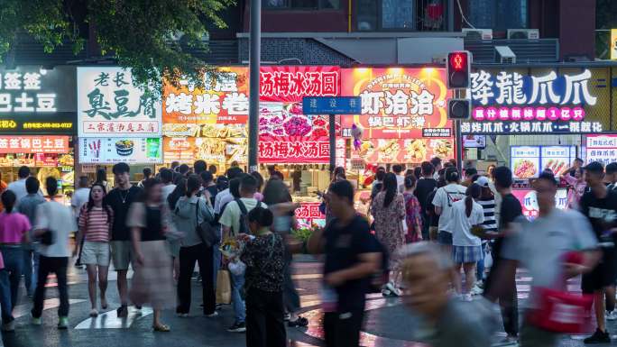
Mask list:
[[[452,128],[447,119],[443,68],[344,68],[342,96],[361,96],[362,114],[343,116],[343,135],[352,125],[365,139],[421,138],[423,128]]]

